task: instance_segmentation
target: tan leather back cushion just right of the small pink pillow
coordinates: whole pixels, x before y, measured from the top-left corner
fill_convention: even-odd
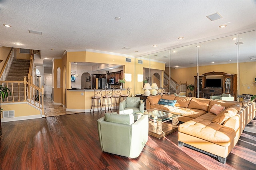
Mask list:
[[[233,117],[236,113],[241,109],[240,105],[233,105],[219,113],[214,119],[212,119],[213,123],[223,124],[228,118]]]

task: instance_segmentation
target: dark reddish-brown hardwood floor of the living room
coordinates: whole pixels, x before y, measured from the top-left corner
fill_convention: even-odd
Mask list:
[[[138,158],[102,152],[97,119],[104,111],[2,123],[1,170],[252,170],[256,134],[244,132],[226,164],[178,146],[178,131],[148,142]]]

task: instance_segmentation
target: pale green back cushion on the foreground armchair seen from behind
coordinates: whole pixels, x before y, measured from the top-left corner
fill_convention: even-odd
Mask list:
[[[116,112],[105,113],[104,121],[132,125],[134,123],[134,116],[132,114],[118,115]]]

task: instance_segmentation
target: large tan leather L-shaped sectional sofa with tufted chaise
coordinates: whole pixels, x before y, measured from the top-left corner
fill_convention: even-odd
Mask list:
[[[160,99],[175,100],[174,107],[158,104]],[[225,107],[218,115],[211,113],[214,105]],[[255,117],[255,103],[250,100],[220,101],[171,95],[149,96],[146,109],[163,109],[183,113],[178,120],[178,145],[188,146],[211,156],[222,163],[238,142],[244,127]]]

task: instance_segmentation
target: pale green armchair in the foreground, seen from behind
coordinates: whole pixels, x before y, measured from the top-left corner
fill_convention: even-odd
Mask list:
[[[137,158],[148,141],[148,115],[133,123],[133,115],[113,113],[106,113],[105,117],[98,119],[102,151]]]

